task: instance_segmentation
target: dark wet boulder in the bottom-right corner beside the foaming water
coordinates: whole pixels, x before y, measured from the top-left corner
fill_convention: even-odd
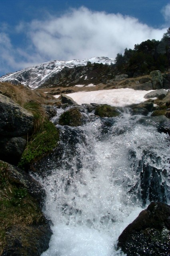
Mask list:
[[[127,256],[170,256],[170,206],[152,202],[118,238]]]

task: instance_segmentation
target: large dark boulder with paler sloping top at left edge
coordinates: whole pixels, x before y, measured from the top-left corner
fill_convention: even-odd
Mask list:
[[[31,132],[33,115],[0,94],[0,136],[17,137]]]

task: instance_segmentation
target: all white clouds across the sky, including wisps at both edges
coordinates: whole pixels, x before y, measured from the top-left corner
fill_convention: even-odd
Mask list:
[[[162,10],[165,18],[169,10],[170,5]],[[119,13],[71,9],[60,17],[18,24],[16,35],[24,35],[24,47],[14,47],[10,35],[0,33],[0,68],[7,73],[54,59],[115,58],[126,47],[133,49],[134,44],[147,39],[160,40],[166,30]]]

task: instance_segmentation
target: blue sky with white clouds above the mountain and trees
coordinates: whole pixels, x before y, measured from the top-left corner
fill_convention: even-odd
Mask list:
[[[0,76],[52,60],[115,58],[170,27],[170,0],[0,0]]]

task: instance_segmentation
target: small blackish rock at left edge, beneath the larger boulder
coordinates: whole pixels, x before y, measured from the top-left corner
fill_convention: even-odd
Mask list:
[[[16,165],[24,152],[25,146],[26,139],[22,137],[0,137],[0,159]]]

